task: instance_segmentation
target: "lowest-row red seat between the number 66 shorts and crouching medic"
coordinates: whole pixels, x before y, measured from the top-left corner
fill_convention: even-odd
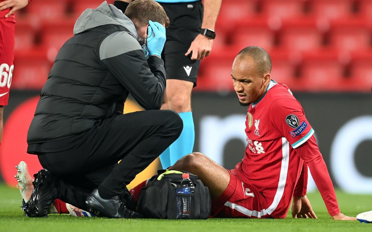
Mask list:
[[[41,89],[52,63],[40,50],[15,54],[12,89]]]

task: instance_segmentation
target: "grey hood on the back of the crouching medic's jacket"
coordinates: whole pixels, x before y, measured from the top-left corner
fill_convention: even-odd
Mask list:
[[[133,22],[121,10],[112,4],[108,4],[107,1],[101,3],[97,9],[84,10],[76,20],[74,35],[86,32],[94,27],[108,24],[123,26],[138,39]]]

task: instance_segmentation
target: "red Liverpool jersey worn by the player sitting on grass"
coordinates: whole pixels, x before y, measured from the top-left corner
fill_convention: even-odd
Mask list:
[[[248,146],[234,171],[256,187],[261,208],[252,215],[285,218],[304,162],[295,148],[314,130],[289,88],[271,80],[264,95],[250,105],[245,131]]]

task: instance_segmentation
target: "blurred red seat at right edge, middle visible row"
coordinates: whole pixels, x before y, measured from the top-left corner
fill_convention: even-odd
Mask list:
[[[365,50],[371,46],[371,30],[364,18],[346,18],[332,22],[330,43],[341,51]]]

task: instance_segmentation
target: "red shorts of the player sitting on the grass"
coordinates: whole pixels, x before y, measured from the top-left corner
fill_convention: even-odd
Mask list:
[[[228,170],[230,183],[224,193],[212,200],[212,218],[267,218],[260,213],[261,195],[247,181],[242,181]]]

